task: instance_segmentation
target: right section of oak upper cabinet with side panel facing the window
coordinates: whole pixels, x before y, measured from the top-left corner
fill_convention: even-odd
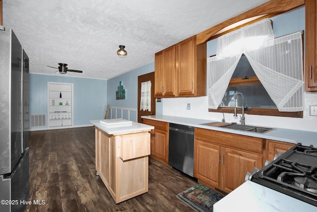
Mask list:
[[[207,43],[196,45],[196,35],[178,46],[178,96],[206,96]]]

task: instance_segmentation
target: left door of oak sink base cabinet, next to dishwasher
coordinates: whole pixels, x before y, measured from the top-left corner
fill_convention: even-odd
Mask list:
[[[195,140],[194,176],[215,187],[219,187],[219,146]]]

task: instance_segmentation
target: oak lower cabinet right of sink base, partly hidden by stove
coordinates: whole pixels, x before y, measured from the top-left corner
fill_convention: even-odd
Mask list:
[[[266,159],[272,161],[275,154],[285,152],[295,144],[283,141],[266,140]]]

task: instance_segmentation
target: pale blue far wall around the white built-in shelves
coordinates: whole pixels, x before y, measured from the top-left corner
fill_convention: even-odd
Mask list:
[[[90,125],[89,120],[104,118],[107,80],[34,73],[30,73],[29,82],[30,115],[48,113],[48,82],[74,84],[73,126]]]

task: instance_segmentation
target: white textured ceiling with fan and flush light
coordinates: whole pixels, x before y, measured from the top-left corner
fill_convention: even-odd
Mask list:
[[[110,79],[154,54],[267,0],[3,0],[2,24],[30,58],[30,72]],[[128,56],[116,51],[125,45]]]

